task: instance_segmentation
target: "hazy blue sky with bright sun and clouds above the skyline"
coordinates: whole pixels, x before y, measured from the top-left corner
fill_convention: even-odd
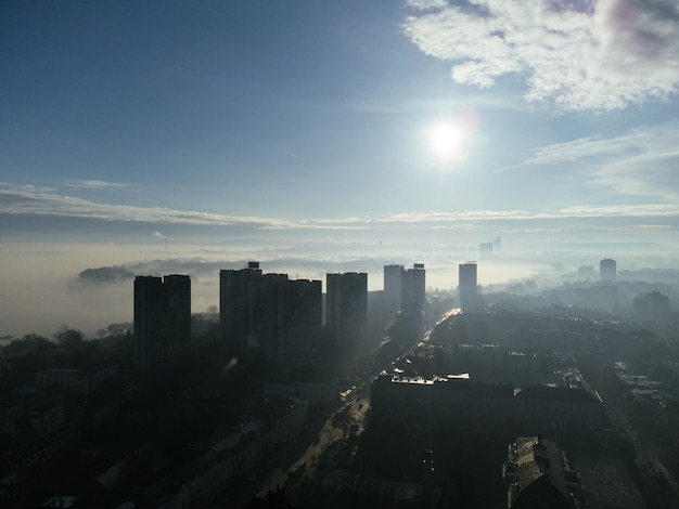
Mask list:
[[[2,2],[0,68],[0,336],[131,319],[86,269],[676,266],[676,0]]]

